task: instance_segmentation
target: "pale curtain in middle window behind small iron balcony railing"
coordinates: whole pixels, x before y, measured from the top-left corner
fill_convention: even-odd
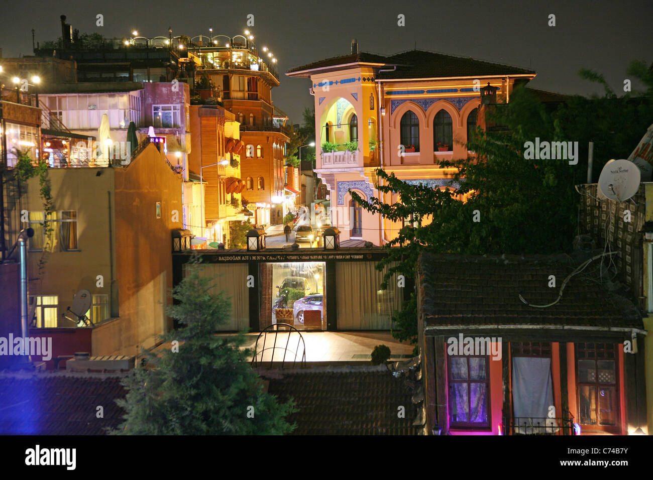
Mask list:
[[[555,433],[556,421],[549,418],[552,405],[551,359],[513,357],[513,413],[519,424],[515,432]]]

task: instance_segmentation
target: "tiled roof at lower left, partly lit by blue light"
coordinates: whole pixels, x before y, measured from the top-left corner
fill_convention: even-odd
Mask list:
[[[0,434],[104,435],[122,423],[120,376],[0,373]],[[97,407],[103,418],[97,417]]]

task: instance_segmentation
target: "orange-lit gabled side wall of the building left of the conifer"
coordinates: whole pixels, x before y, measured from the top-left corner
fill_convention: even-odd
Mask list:
[[[182,178],[153,144],[115,171],[120,316],[93,330],[93,355],[135,355],[172,328],[165,308],[171,304],[171,232],[182,228]]]

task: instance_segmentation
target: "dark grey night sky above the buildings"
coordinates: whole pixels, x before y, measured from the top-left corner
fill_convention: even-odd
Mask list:
[[[653,1],[200,1],[27,0],[3,2],[0,17],[3,56],[32,55],[36,40],[61,35],[59,16],[80,33],[144,37],[242,33],[249,28],[257,46],[268,46],[278,58],[281,86],[276,106],[300,123],[313,102],[309,82],[285,76],[288,69],[358,50],[394,54],[415,47],[456,56],[475,57],[518,67],[532,67],[534,88],[560,93],[600,93],[581,80],[579,68],[605,74],[622,91],[632,59],[653,61]],[[95,16],[104,15],[104,27]],[[247,27],[246,16],[255,16]],[[397,25],[397,15],[406,26]],[[547,25],[556,15],[556,27]],[[633,82],[633,88],[637,88]]]

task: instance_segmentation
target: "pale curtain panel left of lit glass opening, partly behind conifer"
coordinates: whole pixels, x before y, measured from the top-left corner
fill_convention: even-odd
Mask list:
[[[206,264],[199,265],[200,276],[213,280],[212,293],[225,292],[225,296],[231,301],[231,312],[229,321],[222,325],[219,330],[223,332],[231,330],[249,329],[249,289],[247,289],[247,264]]]

